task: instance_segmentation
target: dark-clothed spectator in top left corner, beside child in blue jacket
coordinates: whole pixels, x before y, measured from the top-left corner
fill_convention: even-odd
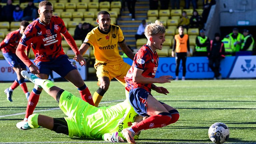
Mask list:
[[[2,21],[13,21],[13,11],[15,10],[15,6],[12,5],[12,0],[7,0],[7,5],[5,5],[2,9]]]

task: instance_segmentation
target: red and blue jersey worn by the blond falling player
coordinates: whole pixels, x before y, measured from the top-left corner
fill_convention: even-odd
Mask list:
[[[135,88],[143,88],[148,92],[151,92],[151,83],[143,84],[136,83],[132,81],[134,67],[140,70],[143,70],[142,76],[148,78],[154,78],[156,75],[157,67],[158,67],[159,57],[148,45],[143,45],[139,51],[135,54],[133,63],[126,76],[124,77],[126,81],[126,90],[135,89]]]

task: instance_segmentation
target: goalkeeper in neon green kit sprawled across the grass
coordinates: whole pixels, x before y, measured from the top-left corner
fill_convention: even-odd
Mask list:
[[[127,100],[113,106],[98,108],[55,86],[49,80],[40,79],[27,71],[22,71],[21,75],[42,87],[57,100],[59,107],[68,117],[52,118],[32,114],[28,117],[28,121],[17,123],[16,126],[20,129],[26,130],[41,126],[70,137],[102,138],[105,141],[124,142],[121,131],[143,119]]]

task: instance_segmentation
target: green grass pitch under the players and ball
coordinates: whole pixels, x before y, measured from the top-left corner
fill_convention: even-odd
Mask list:
[[[96,81],[85,81],[93,94]],[[24,118],[27,100],[20,87],[7,102],[5,88],[11,83],[0,83],[0,144],[2,143],[106,143],[100,139],[69,138],[45,128],[19,130],[16,123]],[[70,82],[55,85],[76,96],[79,93]],[[169,90],[163,95],[152,92],[159,101],[176,108],[180,119],[164,128],[142,131],[137,143],[213,143],[208,128],[215,122],[227,124],[230,138],[226,143],[256,144],[256,80],[186,80],[156,84]],[[27,82],[29,91],[33,84]],[[99,106],[108,106],[125,99],[124,87],[112,81]],[[113,102],[114,101],[114,102]],[[42,92],[35,111],[51,117],[65,117],[57,102]]]

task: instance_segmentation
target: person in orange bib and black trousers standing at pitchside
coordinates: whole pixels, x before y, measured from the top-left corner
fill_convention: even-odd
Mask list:
[[[174,51],[176,50],[175,80],[179,79],[180,60],[182,60],[182,69],[183,69],[182,80],[185,80],[187,53],[188,55],[190,55],[189,38],[187,34],[184,34],[183,26],[179,26],[178,31],[179,31],[179,34],[174,36],[174,43],[173,43],[173,49],[172,49],[172,57],[174,57]]]

